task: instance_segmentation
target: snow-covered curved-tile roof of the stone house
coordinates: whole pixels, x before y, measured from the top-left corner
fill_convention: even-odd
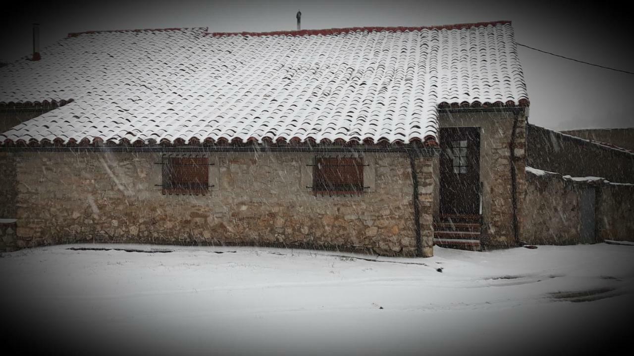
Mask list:
[[[0,105],[65,105],[4,144],[434,144],[439,106],[527,106],[510,22],[84,32],[0,68]],[[69,102],[70,101],[70,102]]]

